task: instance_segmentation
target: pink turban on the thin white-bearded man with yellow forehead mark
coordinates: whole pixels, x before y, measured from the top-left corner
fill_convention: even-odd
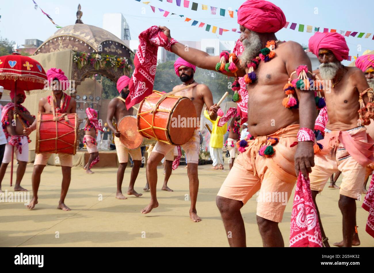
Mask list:
[[[318,57],[321,48],[331,50],[339,62],[348,60],[349,48],[346,39],[337,32],[316,32],[310,37],[309,50]]]

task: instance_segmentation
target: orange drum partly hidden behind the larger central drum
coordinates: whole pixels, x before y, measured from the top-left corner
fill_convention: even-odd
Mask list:
[[[125,116],[118,123],[118,131],[121,132],[119,140],[129,150],[136,150],[142,146],[155,143],[156,140],[143,137],[137,129],[137,118]]]

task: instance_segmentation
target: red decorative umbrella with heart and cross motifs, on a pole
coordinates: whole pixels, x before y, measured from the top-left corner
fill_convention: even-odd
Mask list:
[[[16,109],[16,90],[43,89],[47,75],[43,67],[36,60],[21,56],[18,52],[11,55],[0,56],[0,85],[6,90],[15,91],[14,109]],[[13,111],[15,112],[15,111]],[[13,116],[16,119],[16,115]],[[13,179],[13,154],[10,168],[10,186]]]

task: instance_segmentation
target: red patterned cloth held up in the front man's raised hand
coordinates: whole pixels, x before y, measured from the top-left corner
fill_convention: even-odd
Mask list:
[[[139,47],[134,59],[134,73],[132,73],[129,83],[130,94],[126,98],[127,110],[140,103],[147,95],[152,94],[158,47],[165,47],[170,51],[171,46],[175,43],[177,41],[174,39],[169,42],[168,37],[160,31],[158,26],[151,26],[141,32]]]

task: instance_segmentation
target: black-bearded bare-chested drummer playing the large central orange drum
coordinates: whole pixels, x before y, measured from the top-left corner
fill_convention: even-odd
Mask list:
[[[164,32],[165,33],[165,32]],[[165,33],[168,36],[167,33]],[[170,35],[169,35],[170,37]],[[213,104],[212,92],[205,84],[198,84],[193,79],[196,66],[191,65],[182,58],[178,58],[174,63],[175,73],[180,77],[183,84],[177,85],[173,88],[173,91],[191,85],[191,88],[187,88],[183,91],[177,92],[174,95],[188,97],[193,102],[196,109],[196,116],[200,117],[201,111],[204,104],[210,110],[210,117],[212,120],[217,119],[218,107]],[[184,145],[181,145],[184,152],[186,153],[187,160],[187,175],[190,181],[190,218],[193,222],[200,222],[201,218],[197,216],[196,211],[196,200],[197,192],[199,190],[199,178],[197,176],[197,165],[199,163],[199,152],[200,152],[200,136],[197,129],[195,129],[193,137]],[[157,142],[154,146],[152,153],[150,154],[147,162],[147,177],[151,191],[151,201],[147,207],[142,209],[141,213],[150,213],[153,208],[157,208],[159,203],[156,197],[156,185],[157,185],[157,164],[165,157],[171,150],[174,150],[174,146],[163,142]]]

